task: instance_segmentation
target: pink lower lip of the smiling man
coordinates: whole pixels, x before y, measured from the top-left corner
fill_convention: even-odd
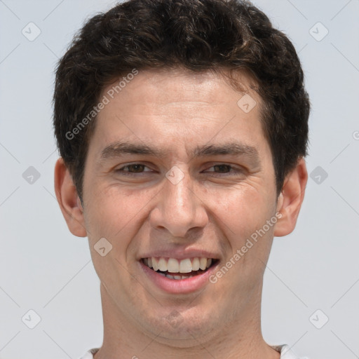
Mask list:
[[[210,284],[210,274],[215,271],[215,266],[211,266],[207,271],[202,274],[198,274],[197,276],[193,276],[187,279],[170,279],[165,276],[161,276],[153,269],[149,268],[142,262],[140,262],[140,266],[147,277],[161,290],[171,293],[171,294],[187,294],[191,292],[196,292],[196,290],[200,290],[206,284]]]

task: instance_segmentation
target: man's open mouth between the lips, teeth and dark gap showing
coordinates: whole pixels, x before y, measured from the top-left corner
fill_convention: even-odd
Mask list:
[[[160,276],[183,280],[205,273],[210,267],[217,264],[218,259],[196,257],[177,260],[175,258],[150,257],[142,258],[141,262]]]

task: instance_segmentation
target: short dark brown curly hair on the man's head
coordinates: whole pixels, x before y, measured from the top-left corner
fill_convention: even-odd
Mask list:
[[[55,137],[81,201],[95,118],[76,136],[69,133],[118,77],[133,69],[173,67],[252,76],[279,194],[308,144],[310,102],[291,41],[249,1],[128,0],[90,18],[56,68]]]

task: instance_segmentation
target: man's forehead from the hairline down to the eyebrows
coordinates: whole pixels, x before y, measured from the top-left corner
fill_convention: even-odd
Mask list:
[[[260,144],[264,140],[261,99],[247,74],[237,73],[236,81],[246,93],[214,72],[168,69],[124,74],[102,90],[107,104],[97,115],[91,142],[99,151],[130,139],[167,148],[182,144],[187,150],[224,140]],[[243,98],[249,100],[250,111],[243,107]]]

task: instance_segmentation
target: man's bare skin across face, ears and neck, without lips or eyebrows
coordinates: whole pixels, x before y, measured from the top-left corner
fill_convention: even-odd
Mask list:
[[[239,79],[250,88],[248,76]],[[248,93],[257,105],[245,113],[237,105],[243,93],[223,76],[139,72],[97,117],[82,204],[65,163],[57,161],[57,200],[69,230],[88,236],[101,281],[104,341],[95,359],[280,357],[262,337],[263,274],[273,236],[294,229],[308,174],[299,159],[277,196],[271,149],[259,122],[262,102]],[[101,158],[105,147],[123,141],[156,145],[165,153]],[[197,146],[228,142],[254,147],[257,161],[245,154],[192,153]],[[133,163],[144,167],[134,172],[126,167]],[[172,166],[184,175],[177,184],[165,177]],[[276,224],[217,283],[201,290],[170,294],[140,268],[139,259],[154,249],[207,250],[225,265],[276,212]],[[104,257],[94,249],[100,238],[112,245]]]

